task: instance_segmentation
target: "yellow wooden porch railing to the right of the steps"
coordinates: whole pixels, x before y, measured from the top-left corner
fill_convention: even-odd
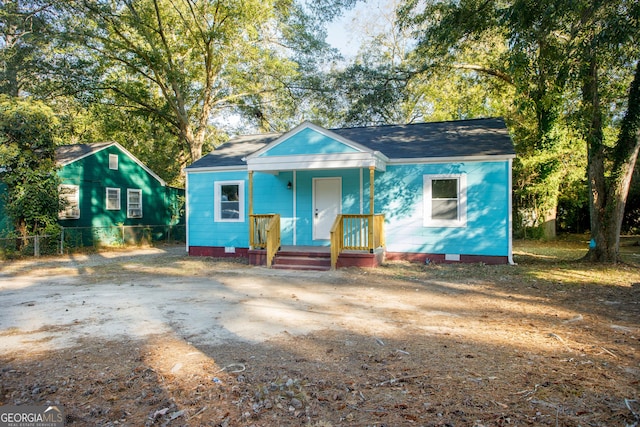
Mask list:
[[[331,227],[331,269],[344,250],[373,253],[384,245],[384,215],[338,215]]]

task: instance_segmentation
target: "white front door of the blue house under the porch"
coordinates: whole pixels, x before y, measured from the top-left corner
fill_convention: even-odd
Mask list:
[[[342,178],[313,179],[313,240],[329,240],[342,211]]]

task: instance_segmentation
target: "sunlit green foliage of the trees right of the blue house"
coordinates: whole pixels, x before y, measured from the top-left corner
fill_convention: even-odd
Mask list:
[[[514,206],[520,225],[538,227],[556,213],[563,220],[580,217],[588,194],[585,142],[604,144],[601,158],[607,160],[599,170],[610,179],[617,173],[616,138],[606,135],[617,135],[638,58],[638,3],[407,0],[398,15],[417,37],[417,70],[465,67],[512,85],[512,107],[505,111],[518,153]],[[506,48],[483,54],[491,45]],[[595,76],[595,84],[585,76]],[[598,192],[598,200],[609,198]]]

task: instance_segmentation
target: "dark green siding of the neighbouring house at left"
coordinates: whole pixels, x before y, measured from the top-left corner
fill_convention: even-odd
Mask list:
[[[110,168],[110,155],[117,156],[117,169]],[[184,196],[184,190],[162,185],[115,145],[62,166],[58,175],[63,185],[79,187],[80,216],[61,219],[64,227],[169,225],[172,206],[177,206],[178,198]],[[119,190],[119,208],[107,208],[108,189]],[[141,191],[141,217],[127,215],[127,190]]]

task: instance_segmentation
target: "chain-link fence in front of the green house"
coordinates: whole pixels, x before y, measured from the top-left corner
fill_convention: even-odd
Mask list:
[[[87,248],[186,242],[184,225],[62,227],[59,234],[0,237],[0,258],[61,255]]]

